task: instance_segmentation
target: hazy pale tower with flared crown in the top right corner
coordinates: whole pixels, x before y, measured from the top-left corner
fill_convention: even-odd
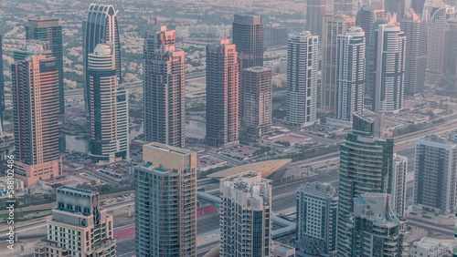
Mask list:
[[[439,87],[442,83],[446,21],[455,16],[455,8],[441,1],[426,1],[422,15],[427,20],[427,68],[425,85]]]

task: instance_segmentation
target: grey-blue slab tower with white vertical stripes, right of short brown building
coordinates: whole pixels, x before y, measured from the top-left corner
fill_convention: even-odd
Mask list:
[[[287,96],[285,122],[298,127],[317,120],[319,36],[309,31],[292,35],[287,44]]]

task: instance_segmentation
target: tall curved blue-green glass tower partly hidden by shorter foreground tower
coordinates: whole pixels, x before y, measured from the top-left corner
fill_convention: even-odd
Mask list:
[[[354,254],[354,198],[366,192],[390,193],[394,140],[384,137],[384,115],[354,114],[352,130],[340,146],[337,253]],[[358,255],[352,255],[358,256]]]

